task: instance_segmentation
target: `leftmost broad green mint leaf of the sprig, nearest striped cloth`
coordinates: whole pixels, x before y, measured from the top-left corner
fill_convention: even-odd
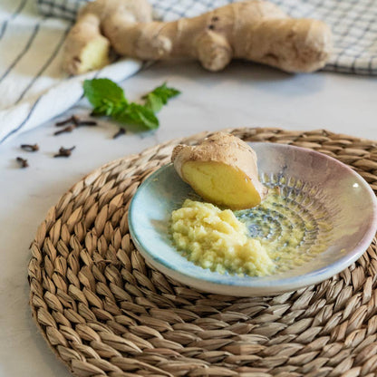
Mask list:
[[[109,79],[92,79],[83,82],[84,96],[91,102],[93,114],[110,116],[128,104],[120,86]]]

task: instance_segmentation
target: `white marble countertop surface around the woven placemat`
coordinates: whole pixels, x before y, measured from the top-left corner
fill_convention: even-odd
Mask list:
[[[160,83],[182,94],[160,114],[150,134],[111,137],[114,124],[53,136],[54,121],[0,146],[0,376],[69,376],[38,332],[28,306],[28,247],[48,208],[76,181],[102,164],[162,141],[228,127],[327,129],[377,140],[377,79],[338,73],[290,75],[251,63],[208,73],[197,63],[159,63],[123,83],[131,100]],[[72,113],[88,114],[82,101]],[[1,125],[0,125],[1,127]],[[27,153],[22,143],[37,142]],[[69,159],[53,159],[61,146]],[[16,156],[29,161],[19,169]]]

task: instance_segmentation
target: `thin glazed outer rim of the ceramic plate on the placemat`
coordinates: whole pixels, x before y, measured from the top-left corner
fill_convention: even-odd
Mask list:
[[[368,227],[367,231],[363,234],[360,238],[357,247],[353,248],[352,250],[348,251],[344,256],[335,260],[332,264],[315,269],[310,273],[305,273],[303,275],[294,275],[292,277],[284,277],[281,279],[274,279],[269,280],[268,276],[263,276],[263,278],[257,276],[235,276],[235,275],[220,275],[215,272],[211,272],[206,269],[206,276],[205,278],[198,278],[196,275],[188,274],[187,272],[183,271],[182,269],[177,268],[177,266],[172,265],[169,263],[169,260],[163,256],[156,256],[153,252],[149,250],[148,247],[143,245],[143,238],[140,237],[140,231],[138,232],[137,229],[139,227],[134,224],[134,211],[136,211],[135,207],[138,205],[138,198],[140,198],[140,193],[146,188],[150,181],[156,179],[157,176],[164,172],[165,169],[174,169],[172,164],[169,163],[157,169],[154,173],[148,177],[142,184],[140,185],[139,189],[137,189],[135,195],[131,199],[131,205],[129,209],[129,228],[131,239],[135,244],[135,247],[140,251],[140,254],[144,256],[144,258],[150,263],[151,266],[155,267],[160,272],[168,275],[169,277],[177,280],[179,283],[190,285],[192,287],[197,288],[201,291],[206,291],[214,294],[220,295],[238,295],[238,296],[249,296],[249,295],[277,295],[285,292],[290,292],[299,288],[303,288],[307,285],[314,285],[318,284],[329,277],[336,275],[343,271],[343,269],[350,266],[354,261],[356,261],[364,251],[370,246],[372,243],[372,239],[375,236],[376,229],[377,229],[377,199],[374,195],[369,184],[362,179],[362,177],[356,173],[353,169],[349,166],[343,164],[341,161],[333,159],[330,156],[324,155],[323,153],[317,152],[315,150],[308,150],[301,147],[295,147],[286,144],[277,144],[277,143],[268,143],[268,142],[249,142],[250,146],[258,148],[264,148],[264,146],[271,147],[275,149],[295,149],[299,150],[304,153],[309,153],[315,155],[320,155],[321,158],[325,158],[330,160],[335,165],[342,167],[345,169],[348,174],[352,175],[354,179],[357,179],[359,185],[362,186],[363,189],[366,189],[369,192],[370,198],[372,200],[372,222],[370,223],[370,227]],[[136,226],[135,226],[136,225]],[[166,247],[170,249],[174,248],[171,245],[166,244]],[[179,253],[175,250],[176,253]],[[183,258],[183,256],[182,256]],[[192,262],[189,262],[185,259],[186,262],[193,265]],[[184,262],[184,263],[186,263]],[[309,262],[310,263],[310,262]],[[195,266],[200,270],[204,270],[200,266]],[[271,276],[274,276],[271,275]],[[275,275],[276,276],[276,275]],[[301,277],[299,279],[298,277]],[[236,284],[234,282],[237,282]]]

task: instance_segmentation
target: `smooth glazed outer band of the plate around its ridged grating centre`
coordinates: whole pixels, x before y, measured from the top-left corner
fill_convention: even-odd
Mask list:
[[[250,143],[262,180],[293,178],[321,192],[332,214],[332,244],[303,266],[263,276],[221,275],[189,262],[169,238],[171,211],[198,198],[166,165],[146,179],[132,198],[129,226],[142,256],[162,273],[202,291],[220,295],[276,295],[319,283],[350,266],[369,247],[377,229],[377,201],[370,186],[338,160],[313,150],[274,143]],[[279,181],[275,182],[279,185]]]

